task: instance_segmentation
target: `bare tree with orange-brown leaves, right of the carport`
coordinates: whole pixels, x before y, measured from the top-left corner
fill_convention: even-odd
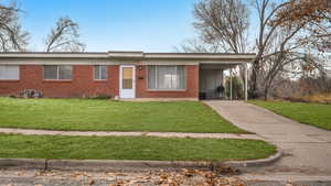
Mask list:
[[[321,46],[320,43],[325,45],[324,41],[330,41],[330,25],[327,23],[330,12],[322,3],[323,0],[290,0],[278,4],[270,0],[255,1],[259,33],[250,78],[253,96],[260,94],[263,88],[267,99],[274,79],[298,64],[322,72],[323,62],[307,55],[305,50],[307,46]],[[320,51],[321,47],[316,48]]]

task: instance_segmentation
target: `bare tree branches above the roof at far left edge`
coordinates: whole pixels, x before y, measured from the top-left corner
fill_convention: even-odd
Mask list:
[[[14,1],[0,3],[0,51],[24,51],[28,44],[28,32],[19,23],[20,10]]]

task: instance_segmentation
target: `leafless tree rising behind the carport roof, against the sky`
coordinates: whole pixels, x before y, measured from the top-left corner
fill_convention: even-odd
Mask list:
[[[189,41],[182,51],[246,52],[248,13],[241,0],[199,1],[193,10],[193,25],[200,42]]]

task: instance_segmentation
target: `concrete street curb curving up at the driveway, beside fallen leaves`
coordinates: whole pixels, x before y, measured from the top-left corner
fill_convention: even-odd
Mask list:
[[[44,158],[0,158],[0,168],[61,169],[61,171],[141,171],[141,169],[214,169],[221,166],[252,167],[266,166],[281,157],[276,154],[261,160],[192,162],[192,161],[99,161],[99,160],[44,160]]]

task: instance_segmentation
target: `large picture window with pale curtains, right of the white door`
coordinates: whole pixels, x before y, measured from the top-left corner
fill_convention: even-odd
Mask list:
[[[161,90],[185,89],[184,66],[148,66],[148,88]]]

